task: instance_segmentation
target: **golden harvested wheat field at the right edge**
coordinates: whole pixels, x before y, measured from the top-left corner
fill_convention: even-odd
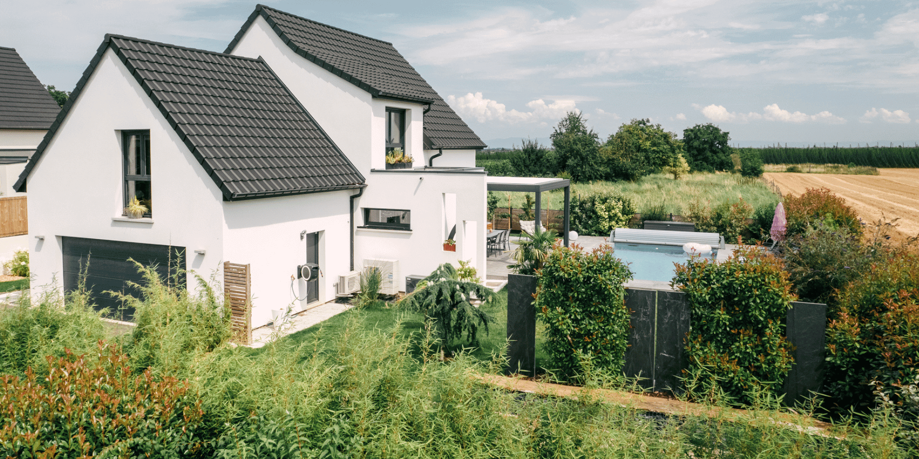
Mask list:
[[[881,213],[896,224],[901,237],[919,234],[919,169],[879,169],[879,175],[766,173],[783,195],[800,195],[808,188],[826,187],[845,198],[866,223]],[[892,235],[896,237],[897,235]],[[896,238],[901,239],[901,238]]]

